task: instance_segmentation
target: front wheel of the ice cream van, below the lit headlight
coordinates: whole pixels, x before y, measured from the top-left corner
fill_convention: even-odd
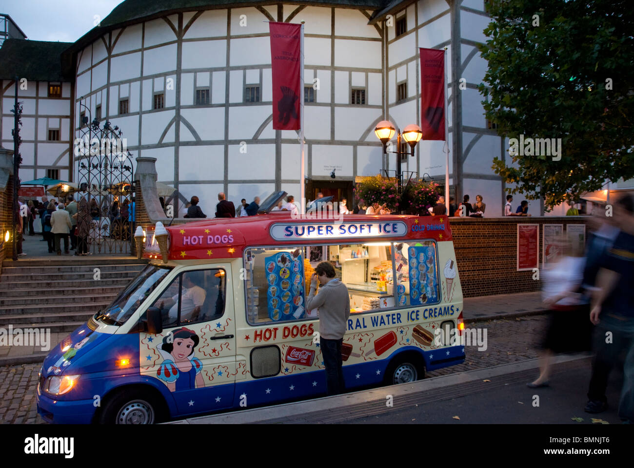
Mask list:
[[[155,424],[162,418],[162,405],[147,391],[121,390],[108,400],[100,424]]]

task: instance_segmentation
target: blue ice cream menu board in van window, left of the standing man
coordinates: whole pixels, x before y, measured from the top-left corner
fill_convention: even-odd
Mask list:
[[[280,252],[264,260],[271,320],[295,320],[304,316],[304,260],[301,250]]]

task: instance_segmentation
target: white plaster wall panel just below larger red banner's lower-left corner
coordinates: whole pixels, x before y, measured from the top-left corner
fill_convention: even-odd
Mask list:
[[[275,145],[229,146],[229,179],[275,179]]]

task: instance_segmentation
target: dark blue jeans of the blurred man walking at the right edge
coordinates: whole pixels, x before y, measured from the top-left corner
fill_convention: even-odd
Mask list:
[[[619,417],[634,422],[634,318],[618,320],[602,312],[599,320],[594,338],[597,354],[592,361],[592,378],[588,388],[588,398],[607,401],[605,398],[607,379],[612,367],[619,359],[619,354],[624,351],[623,389],[619,402]],[[605,342],[607,332],[612,333],[611,343]]]

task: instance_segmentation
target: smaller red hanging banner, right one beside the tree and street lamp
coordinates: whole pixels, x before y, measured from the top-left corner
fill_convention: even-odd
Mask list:
[[[420,48],[420,115],[423,140],[444,140],[444,51]]]

